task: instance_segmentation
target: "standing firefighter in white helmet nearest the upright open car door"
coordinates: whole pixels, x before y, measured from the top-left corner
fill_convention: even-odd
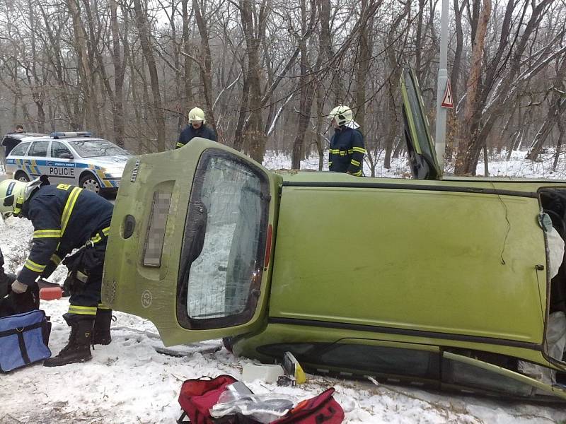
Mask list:
[[[337,106],[330,111],[334,135],[330,139],[328,151],[328,170],[345,172],[357,177],[362,175],[364,161],[364,136],[347,106]]]

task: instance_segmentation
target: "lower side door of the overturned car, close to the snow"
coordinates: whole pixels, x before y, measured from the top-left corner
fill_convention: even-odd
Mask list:
[[[564,388],[552,387],[519,372],[446,351],[442,355],[440,374],[442,389],[547,401],[556,401],[555,396],[566,399]]]

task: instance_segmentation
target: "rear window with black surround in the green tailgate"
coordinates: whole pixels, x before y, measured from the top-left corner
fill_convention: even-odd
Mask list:
[[[248,322],[262,276],[269,185],[252,164],[209,149],[193,180],[180,263],[178,320],[212,329]]]

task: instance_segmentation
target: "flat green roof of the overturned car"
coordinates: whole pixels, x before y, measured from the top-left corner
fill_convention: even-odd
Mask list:
[[[284,187],[270,317],[541,343],[538,212],[517,196]]]

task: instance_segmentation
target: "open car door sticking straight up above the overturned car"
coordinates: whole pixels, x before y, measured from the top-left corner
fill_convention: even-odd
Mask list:
[[[430,136],[417,76],[412,69],[403,69],[399,82],[403,97],[403,132],[412,176],[417,179],[439,179],[442,170]]]

